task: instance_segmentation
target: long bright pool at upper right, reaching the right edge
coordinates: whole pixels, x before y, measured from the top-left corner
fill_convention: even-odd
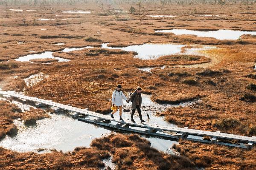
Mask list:
[[[156,30],[155,32],[174,33],[176,35],[197,35],[198,37],[213,37],[218,40],[237,40],[241,35],[256,35],[256,31],[239,31],[220,29],[218,31],[195,31],[187,29]]]

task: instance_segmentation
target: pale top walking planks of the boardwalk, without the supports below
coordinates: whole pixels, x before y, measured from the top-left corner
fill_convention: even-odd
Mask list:
[[[38,99],[38,98],[24,96],[24,95],[20,95],[20,94],[12,94],[12,93],[9,93],[9,92],[4,92],[4,91],[0,91],[0,94],[10,95],[10,96],[14,96],[14,97],[17,97],[17,98],[20,98],[20,99],[30,100],[30,101],[33,101],[33,102],[40,102],[40,103],[44,103],[46,105],[51,105],[51,106],[54,106],[54,107],[66,109],[68,111],[93,116],[93,117],[98,118],[98,119],[110,120],[110,121],[113,121],[113,122],[121,123],[118,119],[112,119],[109,116],[102,115],[100,113],[95,113],[95,112],[87,111],[87,110],[80,109],[80,108],[75,108],[75,107],[68,106],[68,105],[62,105],[60,103],[56,103],[56,102],[52,102],[52,101],[48,101],[48,100],[44,100],[44,99]],[[239,135],[233,135],[233,134],[228,134],[228,133],[210,132],[210,131],[204,131],[204,130],[194,130],[194,129],[189,129],[189,128],[185,129],[185,128],[180,128],[180,127],[150,125],[150,124],[146,124],[146,123],[143,123],[143,124],[133,123],[129,120],[125,121],[125,122],[122,121],[122,122],[126,123],[129,126],[152,128],[152,129],[155,129],[157,131],[169,131],[169,132],[177,132],[177,133],[186,133],[186,134],[197,135],[197,136],[210,136],[210,137],[217,137],[217,138],[224,138],[224,139],[235,139],[235,140],[239,140],[239,141],[242,141],[242,142],[256,143],[256,138],[252,138],[252,137],[249,137],[249,136],[239,136]]]

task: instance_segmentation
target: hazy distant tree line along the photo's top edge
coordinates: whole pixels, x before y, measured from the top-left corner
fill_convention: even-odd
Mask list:
[[[178,5],[193,5],[193,4],[256,4],[256,0],[0,0],[0,5],[76,5],[95,3],[97,5],[131,5],[131,4],[178,4]]]

